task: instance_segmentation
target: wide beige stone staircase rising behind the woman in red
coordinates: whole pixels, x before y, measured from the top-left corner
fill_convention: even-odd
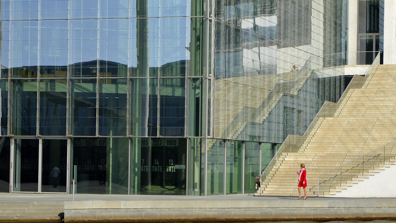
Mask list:
[[[396,164],[395,142],[383,146],[396,138],[395,70],[396,65],[379,65],[365,78],[354,78],[335,104],[333,115],[318,115],[300,146],[281,148],[255,195],[297,196],[300,163],[307,169],[308,196],[317,196],[318,176],[345,163],[320,178],[319,196],[353,189],[370,175]],[[359,80],[364,82],[356,83]]]

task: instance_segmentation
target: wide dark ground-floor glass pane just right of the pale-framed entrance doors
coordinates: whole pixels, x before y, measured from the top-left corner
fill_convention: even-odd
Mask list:
[[[128,193],[128,138],[73,138],[75,193]]]

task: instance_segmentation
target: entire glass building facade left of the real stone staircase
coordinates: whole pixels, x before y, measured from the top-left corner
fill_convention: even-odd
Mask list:
[[[1,192],[254,192],[348,84],[346,0],[0,2]]]

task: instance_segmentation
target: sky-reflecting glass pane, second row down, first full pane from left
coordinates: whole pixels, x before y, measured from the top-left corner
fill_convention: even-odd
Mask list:
[[[37,59],[38,21],[10,22],[10,67],[15,68],[13,77],[37,77]]]

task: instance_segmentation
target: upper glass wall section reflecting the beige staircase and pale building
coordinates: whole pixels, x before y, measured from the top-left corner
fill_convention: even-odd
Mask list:
[[[345,63],[346,3],[215,1],[214,138],[281,144],[305,132],[324,103],[318,79],[338,75],[331,67]],[[310,60],[325,54],[333,58]],[[339,88],[329,85],[325,94]]]

